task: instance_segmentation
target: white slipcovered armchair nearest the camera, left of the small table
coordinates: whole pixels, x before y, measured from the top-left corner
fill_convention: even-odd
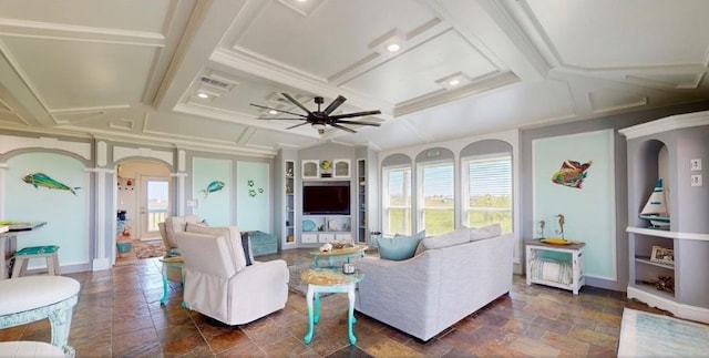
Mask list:
[[[245,254],[236,226],[187,225],[175,239],[185,260],[187,308],[227,325],[243,325],[286,306],[286,262],[254,262]]]

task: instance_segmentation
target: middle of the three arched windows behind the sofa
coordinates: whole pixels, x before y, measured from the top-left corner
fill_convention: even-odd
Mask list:
[[[420,223],[427,236],[455,228],[453,162],[421,165]]]

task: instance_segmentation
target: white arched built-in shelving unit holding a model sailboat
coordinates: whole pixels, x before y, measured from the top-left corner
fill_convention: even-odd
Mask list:
[[[709,112],[619,132],[628,143],[628,298],[709,323],[709,191],[696,185],[706,170],[692,164],[709,160]],[[658,178],[669,207],[669,229],[650,227],[638,216]],[[654,259],[654,248],[671,249],[672,259]]]

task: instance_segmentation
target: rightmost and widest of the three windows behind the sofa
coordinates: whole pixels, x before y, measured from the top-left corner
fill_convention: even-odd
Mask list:
[[[463,163],[466,226],[500,223],[503,233],[512,233],[512,156],[507,153],[476,156]]]

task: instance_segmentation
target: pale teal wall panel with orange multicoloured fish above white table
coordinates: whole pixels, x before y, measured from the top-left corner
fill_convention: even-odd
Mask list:
[[[534,223],[546,222],[545,237],[559,237],[557,214],[564,214],[564,238],[586,243],[587,276],[615,279],[615,190],[612,130],[533,141]],[[564,161],[586,163],[582,188],[558,185],[552,175]],[[535,235],[536,237],[537,235]]]

